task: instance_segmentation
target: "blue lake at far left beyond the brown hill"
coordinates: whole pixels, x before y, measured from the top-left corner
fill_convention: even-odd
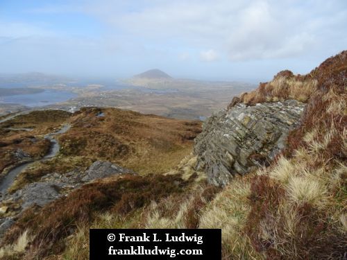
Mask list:
[[[67,101],[76,97],[77,94],[62,92],[54,89],[44,89],[44,92],[37,94],[24,94],[15,96],[0,96],[0,103],[15,103],[28,107],[40,107],[58,102]]]

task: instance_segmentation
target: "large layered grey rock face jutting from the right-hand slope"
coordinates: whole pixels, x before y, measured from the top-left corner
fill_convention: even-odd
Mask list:
[[[203,132],[195,139],[196,170],[205,171],[212,184],[223,186],[236,174],[268,164],[285,148],[304,107],[298,101],[239,103],[217,112],[203,123]]]

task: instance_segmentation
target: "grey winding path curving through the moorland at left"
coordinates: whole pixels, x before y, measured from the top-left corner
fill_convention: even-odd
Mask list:
[[[15,116],[13,116],[13,117],[15,117]],[[13,118],[13,117],[11,117],[11,118]],[[42,161],[45,161],[46,159],[51,159],[51,158],[55,157],[59,152],[60,146],[58,144],[58,141],[56,139],[54,139],[53,137],[55,135],[60,135],[60,134],[67,132],[67,130],[69,130],[70,128],[71,128],[70,124],[65,124],[65,125],[62,125],[62,128],[60,128],[60,130],[58,130],[57,132],[51,132],[50,134],[45,135],[44,138],[48,139],[51,142],[51,148],[49,149],[49,153],[47,153],[42,159],[37,159],[37,160],[31,161],[31,162],[25,162],[24,164],[21,164],[19,166],[15,166],[14,168],[12,168],[6,174],[6,176],[4,176],[2,178],[2,180],[0,180],[0,193],[6,193],[8,188],[15,181],[15,178],[17,177],[17,175],[19,175],[19,173],[22,173],[22,171],[24,171],[24,169],[26,167],[28,167],[29,165],[33,164],[34,162],[42,162]]]

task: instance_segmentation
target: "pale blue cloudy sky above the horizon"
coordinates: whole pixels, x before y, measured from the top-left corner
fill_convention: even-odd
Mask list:
[[[346,0],[0,0],[0,73],[270,80],[347,49]]]

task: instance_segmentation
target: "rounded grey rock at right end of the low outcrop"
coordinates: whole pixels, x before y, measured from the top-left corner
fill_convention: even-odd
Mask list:
[[[90,168],[85,172],[85,176],[82,178],[83,182],[88,182],[90,180],[96,180],[103,177],[109,177],[111,175],[121,175],[121,174],[136,174],[135,172],[123,168],[117,164],[112,164],[111,162],[94,162]]]

